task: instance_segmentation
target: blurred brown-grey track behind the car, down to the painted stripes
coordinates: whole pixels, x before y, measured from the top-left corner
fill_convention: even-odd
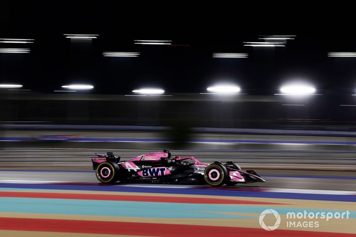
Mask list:
[[[120,155],[122,160],[129,159],[140,154],[152,152],[152,150],[113,150]],[[91,156],[94,153],[105,152],[96,149],[5,149],[0,154],[0,182],[93,182],[97,183],[92,170]],[[263,176],[265,183],[254,183],[249,187],[270,188],[297,188],[297,189],[324,189],[324,190],[356,190],[356,173],[336,171],[308,171],[293,170],[296,166],[327,165],[355,166],[356,158],[353,152],[302,152],[302,151],[278,151],[278,150],[174,150],[172,155],[192,155],[202,162],[214,162],[216,160],[232,160],[242,168],[254,167],[255,171]],[[291,170],[271,170],[264,167],[285,165]],[[27,171],[55,171],[55,172],[10,172],[10,170]],[[74,171],[60,173],[57,171]],[[7,172],[5,172],[7,171]],[[82,172],[81,172],[82,171]]]

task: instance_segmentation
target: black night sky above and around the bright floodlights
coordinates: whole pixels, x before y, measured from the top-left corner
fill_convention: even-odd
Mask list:
[[[321,90],[356,89],[356,58],[327,57],[328,52],[356,51],[351,6],[72,2],[0,3],[0,38],[35,39],[31,54],[0,55],[0,82],[43,92],[84,82],[95,85],[98,93],[121,94],[142,86],[204,92],[225,80],[249,94],[272,94],[284,81],[302,78]],[[71,43],[64,33],[100,36],[91,43]],[[296,35],[296,39],[284,48],[243,46],[259,35]],[[189,46],[134,45],[138,39]],[[5,47],[10,46],[0,45]],[[141,55],[112,58],[103,57],[103,51]],[[249,53],[249,58],[217,59],[212,58],[214,52]]]

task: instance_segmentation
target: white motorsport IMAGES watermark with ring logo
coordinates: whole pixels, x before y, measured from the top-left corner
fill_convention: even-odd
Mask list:
[[[348,219],[350,212],[287,212],[286,214],[286,226],[287,228],[292,227],[304,227],[304,228],[317,228],[319,227],[318,219]],[[268,216],[275,220],[273,225],[266,225],[264,219]],[[303,220],[302,220],[303,219]],[[281,224],[281,216],[276,210],[266,209],[264,210],[258,218],[260,226],[268,231],[275,230]]]

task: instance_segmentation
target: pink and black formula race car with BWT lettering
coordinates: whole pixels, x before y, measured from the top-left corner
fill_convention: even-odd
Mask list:
[[[239,183],[265,182],[254,171],[242,171],[238,164],[227,161],[201,163],[193,156],[171,156],[169,150],[140,155],[120,161],[120,156],[112,152],[96,153],[92,157],[93,169],[102,183],[145,182],[145,183],[189,183],[211,186]]]

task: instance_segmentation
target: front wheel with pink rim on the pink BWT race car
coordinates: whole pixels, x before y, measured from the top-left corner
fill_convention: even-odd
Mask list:
[[[227,182],[228,178],[226,167],[221,163],[212,163],[205,168],[204,180],[211,186],[221,186]]]

